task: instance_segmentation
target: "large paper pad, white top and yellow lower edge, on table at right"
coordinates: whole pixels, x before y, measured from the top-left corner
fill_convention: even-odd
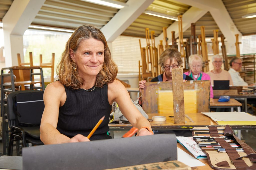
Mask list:
[[[256,125],[256,116],[246,112],[201,112],[218,125]]]

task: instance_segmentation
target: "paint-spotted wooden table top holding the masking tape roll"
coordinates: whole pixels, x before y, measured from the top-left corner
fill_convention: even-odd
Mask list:
[[[152,116],[166,116],[166,121],[151,121],[150,125],[153,130],[189,130],[193,127],[207,127],[207,126],[220,126],[217,125],[210,117],[202,113],[189,113],[185,114],[184,124],[174,124],[174,117],[169,117],[169,114],[149,113],[148,119],[152,119]],[[222,125],[223,126],[223,125]],[[125,124],[109,124],[110,130],[124,130],[131,129],[130,123]],[[256,125],[231,125],[231,128],[235,129],[250,129],[256,128]]]

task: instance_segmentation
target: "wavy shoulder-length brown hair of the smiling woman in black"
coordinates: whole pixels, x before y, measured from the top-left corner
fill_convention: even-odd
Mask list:
[[[104,70],[100,70],[96,77],[95,85],[97,87],[103,87],[104,84],[111,83],[115,80],[118,67],[111,57],[105,36],[96,27],[91,25],[82,25],[73,32],[67,41],[60,63],[57,66],[57,76],[61,84],[72,89],[79,89],[84,84],[84,80],[78,75],[78,71],[74,69],[77,68],[77,64],[71,59],[69,49],[71,48],[74,53],[76,53],[80,42],[89,38],[94,38],[104,44]]]

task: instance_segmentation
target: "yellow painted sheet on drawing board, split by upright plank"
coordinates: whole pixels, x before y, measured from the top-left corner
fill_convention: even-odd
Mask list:
[[[184,90],[185,114],[197,113],[196,99],[196,90]],[[174,116],[172,90],[158,91],[158,111],[159,113],[168,113],[170,116]]]

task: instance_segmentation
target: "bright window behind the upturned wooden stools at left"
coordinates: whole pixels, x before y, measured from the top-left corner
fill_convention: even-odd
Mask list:
[[[24,46],[24,62],[29,61],[29,52],[33,54],[33,64],[39,66],[39,55],[42,54],[42,62],[49,63],[52,53],[55,53],[54,71],[56,75],[56,67],[64,51],[65,44],[71,33],[26,30],[23,35]],[[51,69],[43,68],[44,79],[50,81]]]

